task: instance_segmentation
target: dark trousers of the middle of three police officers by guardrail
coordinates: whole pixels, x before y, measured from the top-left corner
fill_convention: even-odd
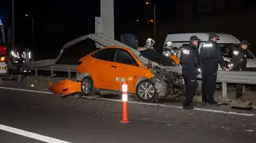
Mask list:
[[[218,63],[203,63],[202,70],[202,100],[214,101],[214,92],[216,90]],[[207,98],[208,97],[208,98]]]

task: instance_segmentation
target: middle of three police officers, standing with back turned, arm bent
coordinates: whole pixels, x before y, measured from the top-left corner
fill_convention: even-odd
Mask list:
[[[200,60],[203,66],[202,69],[202,100],[203,103],[217,104],[214,100],[214,92],[216,89],[216,79],[218,71],[218,63],[222,69],[226,67],[222,57],[222,51],[218,45],[217,40],[219,36],[216,33],[209,34],[209,40],[200,50]],[[208,96],[208,97],[207,97]]]

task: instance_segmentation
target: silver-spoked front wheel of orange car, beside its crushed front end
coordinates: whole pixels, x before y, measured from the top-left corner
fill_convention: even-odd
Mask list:
[[[158,98],[158,93],[156,92],[156,88],[154,88],[154,84],[146,79],[139,82],[136,87],[136,96],[141,101],[152,102],[156,101]]]

